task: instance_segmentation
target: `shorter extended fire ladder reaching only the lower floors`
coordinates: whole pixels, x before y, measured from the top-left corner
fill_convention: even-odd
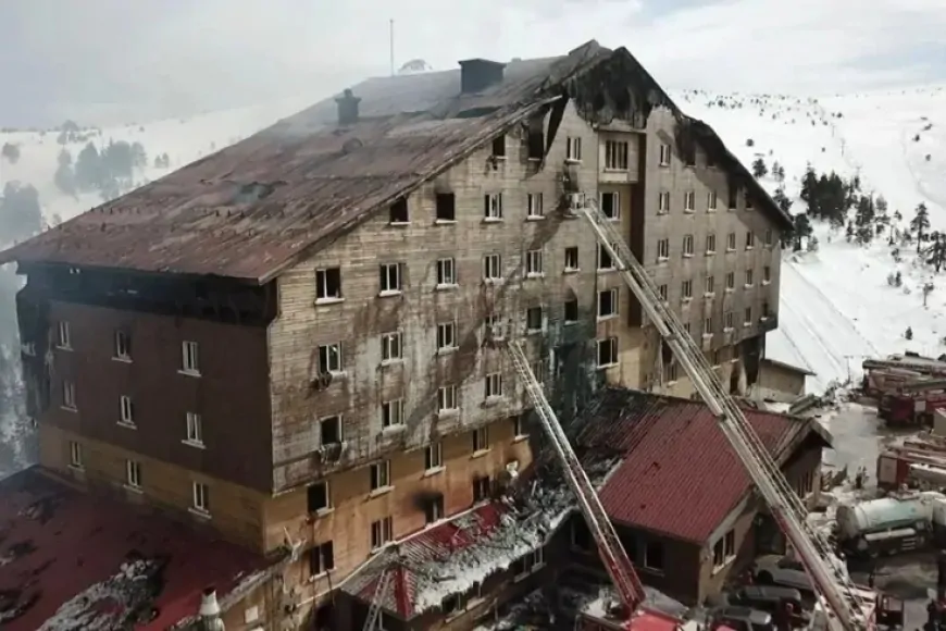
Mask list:
[[[543,429],[562,463],[565,480],[578,500],[578,508],[581,508],[582,515],[585,517],[588,530],[592,531],[592,536],[594,536],[595,543],[598,546],[598,554],[601,555],[601,560],[605,562],[605,568],[608,570],[614,589],[618,591],[618,596],[624,606],[627,607],[628,613],[633,614],[640,603],[644,602],[644,585],[640,583],[637,572],[634,571],[634,566],[627,557],[621,540],[618,539],[618,533],[614,532],[614,527],[611,524],[611,520],[608,519],[608,514],[605,512],[601,500],[598,499],[595,486],[588,480],[588,474],[582,469],[577,456],[572,450],[572,446],[551,405],[549,405],[542,385],[528,367],[528,359],[526,359],[522,346],[519,342],[509,342],[508,350],[512,358],[512,364],[515,367],[520,380],[525,384],[526,393],[528,393],[528,397],[535,406],[535,411],[542,421]]]

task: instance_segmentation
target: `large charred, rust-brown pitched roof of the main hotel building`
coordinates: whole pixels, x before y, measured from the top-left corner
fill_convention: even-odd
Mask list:
[[[494,77],[496,78],[496,77]],[[617,78],[617,81],[615,81]],[[595,41],[513,61],[461,91],[460,70],[362,82],[232,147],[0,253],[58,263],[264,283],[410,194],[552,99],[587,117],[671,108],[761,206],[791,221],[707,125],[684,116],[625,49]]]

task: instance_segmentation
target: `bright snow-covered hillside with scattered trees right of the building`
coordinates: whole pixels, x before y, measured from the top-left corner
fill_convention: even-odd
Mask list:
[[[810,164],[818,173],[859,175],[864,193],[882,195],[906,230],[920,202],[929,208],[931,231],[946,230],[946,89],[938,87],[830,98],[772,95],[675,95],[690,115],[712,125],[747,164],[757,158],[785,169],[784,187],[798,199]],[[942,126],[941,126],[942,125]],[[751,140],[751,143],[749,143]],[[749,146],[751,145],[751,146]],[[779,183],[762,180],[770,191]],[[946,352],[946,286],[917,260],[914,246],[901,246],[894,260],[886,236],[871,245],[848,243],[844,231],[814,225],[816,252],[786,253],[782,271],[780,329],[769,354],[817,373],[812,389],[857,378],[864,357],[914,350]],[[903,286],[888,276],[899,271]],[[934,284],[923,306],[923,285]],[[944,283],[946,285],[946,283]],[[905,338],[907,327],[912,339]]]

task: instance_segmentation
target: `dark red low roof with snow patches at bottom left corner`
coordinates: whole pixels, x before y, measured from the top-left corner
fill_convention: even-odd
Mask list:
[[[37,468],[0,482],[4,631],[36,631],[58,613],[64,623],[49,622],[49,631],[164,631],[197,615],[204,587],[223,598],[266,566],[259,555],[80,493]],[[132,567],[148,568],[148,580],[119,577],[138,574]]]

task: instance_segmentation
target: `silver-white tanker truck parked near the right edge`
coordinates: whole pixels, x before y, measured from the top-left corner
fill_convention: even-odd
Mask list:
[[[946,543],[946,495],[912,493],[837,507],[837,541],[846,555],[875,558]]]

